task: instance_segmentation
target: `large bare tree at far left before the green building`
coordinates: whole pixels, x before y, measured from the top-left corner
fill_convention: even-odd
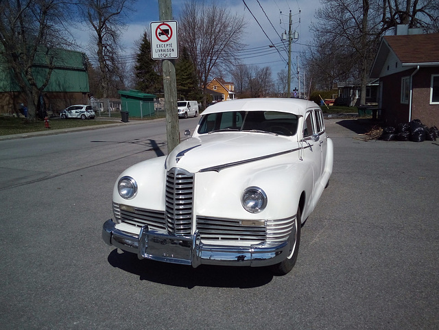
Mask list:
[[[65,15],[58,0],[1,0],[0,58],[27,100],[28,119],[36,120],[40,94],[54,69],[56,47],[69,44]],[[36,75],[36,64],[39,77]]]

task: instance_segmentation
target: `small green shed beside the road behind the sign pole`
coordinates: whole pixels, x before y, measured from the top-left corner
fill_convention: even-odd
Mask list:
[[[132,89],[118,91],[121,95],[121,111],[128,112],[130,117],[149,117],[154,115],[154,98],[156,95],[142,93]]]

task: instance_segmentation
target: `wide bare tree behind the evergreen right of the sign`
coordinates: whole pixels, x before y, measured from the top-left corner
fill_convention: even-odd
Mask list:
[[[231,14],[215,2],[206,5],[204,1],[188,0],[183,5],[179,40],[195,64],[204,95],[212,69],[218,64],[230,66],[236,62],[244,27],[244,16]],[[205,96],[203,105],[206,106]]]

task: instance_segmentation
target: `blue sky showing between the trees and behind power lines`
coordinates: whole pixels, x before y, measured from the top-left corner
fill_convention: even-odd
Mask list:
[[[210,0],[206,0],[209,2]],[[246,5],[244,4],[244,1]],[[299,34],[297,43],[292,45],[292,75],[296,73],[296,56],[302,51],[303,45],[307,44],[311,38],[309,33],[309,23],[313,20],[313,14],[320,5],[318,0],[223,0],[221,5],[228,8],[231,13],[244,15],[247,21],[246,35],[243,42],[246,44],[240,55],[246,64],[259,65],[260,67],[271,67],[272,77],[277,78],[277,72],[287,69],[287,53],[281,47],[278,50],[282,57],[274,48],[268,47],[270,40],[275,45],[281,42],[279,36],[288,30],[288,14],[292,11],[293,27]],[[172,12],[178,21],[180,8],[184,0],[172,1]],[[300,15],[298,14],[300,10]],[[281,14],[282,12],[282,14]],[[256,19],[252,16],[254,15]],[[298,22],[300,16],[300,23]],[[139,40],[150,26],[152,21],[158,19],[158,0],[137,0],[134,3],[134,12],[128,14],[126,30],[123,31],[123,49],[125,56],[134,54],[134,41]],[[281,24],[280,21],[283,23]],[[259,26],[259,24],[261,27]],[[264,33],[265,32],[265,33]],[[265,36],[267,34],[267,36]],[[86,45],[88,42],[88,32],[75,32],[76,38]],[[266,51],[265,51],[266,49]],[[299,67],[300,59],[299,59]],[[302,80],[302,74],[301,78]],[[297,85],[297,80],[292,80],[292,89]]]

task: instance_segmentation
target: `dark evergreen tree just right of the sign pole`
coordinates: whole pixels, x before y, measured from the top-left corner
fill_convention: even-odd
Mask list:
[[[177,95],[180,99],[201,101],[202,92],[195,66],[186,47],[176,62]]]

